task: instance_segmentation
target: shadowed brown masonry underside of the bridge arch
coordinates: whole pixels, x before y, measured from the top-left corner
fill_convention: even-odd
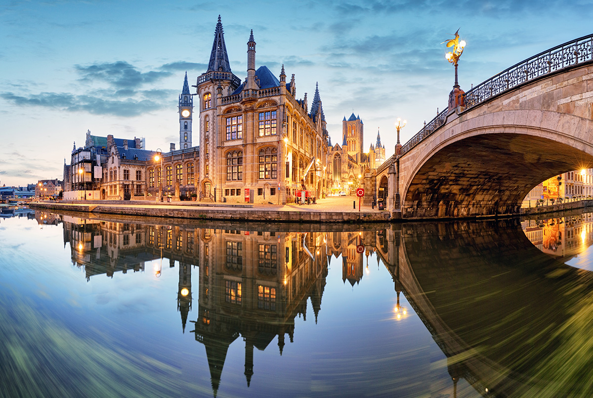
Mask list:
[[[551,139],[517,133],[472,136],[442,148],[422,165],[404,192],[402,215],[518,214],[537,184],[589,167],[591,154]]]

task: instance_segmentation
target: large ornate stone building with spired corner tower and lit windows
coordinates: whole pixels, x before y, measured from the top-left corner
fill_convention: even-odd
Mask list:
[[[203,199],[291,202],[302,179],[321,196],[327,131],[318,90],[309,109],[307,93],[297,98],[295,77],[286,82],[284,66],[279,78],[267,66],[256,69],[253,31],[247,78],[241,81],[231,71],[219,17],[208,70],[197,78],[196,88]]]

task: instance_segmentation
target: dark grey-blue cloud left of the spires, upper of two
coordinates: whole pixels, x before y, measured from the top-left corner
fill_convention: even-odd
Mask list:
[[[125,61],[88,66],[75,65],[75,69],[82,75],[80,81],[103,81],[115,88],[138,88],[171,75],[171,72],[167,71],[141,72]]]

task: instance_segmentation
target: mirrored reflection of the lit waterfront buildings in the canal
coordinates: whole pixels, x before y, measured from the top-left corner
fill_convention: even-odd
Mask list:
[[[375,231],[245,231],[54,217],[63,221],[64,244],[69,244],[72,263],[85,270],[87,281],[129,270],[159,277],[163,267],[178,264],[181,329],[185,332],[197,307],[190,333],[205,346],[215,395],[231,343],[239,337],[245,342],[249,386],[254,348],[263,351],[275,342],[282,355],[286,340],[294,340],[295,319],[307,320],[309,300],[317,323],[330,257],[342,256],[343,282],[355,286],[364,276],[365,256],[368,267],[378,239]],[[149,262],[154,269],[146,268]],[[196,268],[199,293],[193,303]]]

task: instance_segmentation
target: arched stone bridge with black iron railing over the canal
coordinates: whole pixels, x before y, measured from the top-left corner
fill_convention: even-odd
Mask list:
[[[593,167],[593,35],[464,94],[377,170],[402,218],[514,215],[538,183]],[[380,196],[380,195],[378,195]]]

